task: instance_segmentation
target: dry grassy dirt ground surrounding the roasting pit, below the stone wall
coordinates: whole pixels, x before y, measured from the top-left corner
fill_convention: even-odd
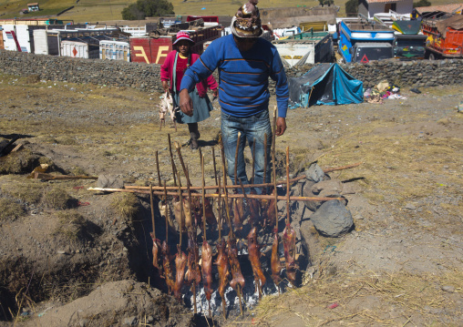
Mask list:
[[[201,185],[188,128],[168,119],[159,130],[159,94],[1,75],[0,87],[0,140],[19,136],[23,145],[0,158],[0,326],[463,325],[461,86],[421,94],[403,86],[406,99],[383,104],[289,110],[276,149],[281,160],[290,147],[292,176],[314,160],[324,169],[363,163],[330,174],[351,189],[355,229],[324,238],[303,209],[295,223],[312,265],[301,287],[208,323],[149,286],[161,281],[149,262],[147,195],[87,190],[95,179],[26,179],[48,164],[54,174],[157,184],[157,152],[170,185],[169,133]],[[200,124],[207,185],[212,147],[221,162],[217,106]]]

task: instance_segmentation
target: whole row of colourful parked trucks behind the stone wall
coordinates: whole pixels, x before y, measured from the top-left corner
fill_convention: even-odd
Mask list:
[[[39,55],[71,56],[162,64],[179,30],[190,33],[193,51],[201,54],[211,42],[230,34],[214,15],[159,19],[143,27],[63,25],[57,20],[0,20],[0,49]],[[273,29],[262,37],[273,42],[286,67],[330,62],[334,48],[345,63],[374,60],[462,58],[463,15],[431,13],[422,19],[406,15],[363,15],[327,22]],[[307,28],[309,28],[307,30]],[[304,30],[305,29],[305,30]],[[316,32],[314,31],[316,29]]]

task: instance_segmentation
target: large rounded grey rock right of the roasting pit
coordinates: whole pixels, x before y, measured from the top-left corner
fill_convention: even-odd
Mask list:
[[[324,202],[310,219],[315,229],[326,237],[342,236],[354,226],[350,210],[338,199]]]

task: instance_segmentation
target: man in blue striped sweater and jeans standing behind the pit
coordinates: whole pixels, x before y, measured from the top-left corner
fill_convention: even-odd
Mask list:
[[[257,8],[257,0],[242,5],[231,20],[229,36],[223,36],[211,43],[194,65],[185,72],[180,85],[180,109],[192,115],[191,99],[188,94],[192,87],[219,69],[219,101],[221,104],[221,135],[228,175],[234,184],[235,151],[238,132],[241,132],[237,160],[237,177],[243,184],[249,184],[246,176],[243,149],[246,140],[254,151],[254,183],[263,182],[264,135],[267,135],[267,162],[270,162],[272,128],[269,118],[268,78],[276,82],[278,119],[276,136],[286,129],[288,107],[288,84],[282,60],[277,49],[262,36],[262,24]],[[267,169],[268,171],[268,169]],[[270,180],[270,174],[266,174]]]

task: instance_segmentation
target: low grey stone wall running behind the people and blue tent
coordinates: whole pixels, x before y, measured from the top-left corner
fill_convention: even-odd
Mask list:
[[[463,60],[383,60],[368,64],[342,65],[353,77],[374,87],[387,80],[399,87],[436,87],[463,84]],[[288,77],[301,77],[311,65],[287,69]],[[162,90],[159,65],[127,63],[66,56],[45,56],[0,50],[0,72],[17,76],[36,75],[40,79],[92,83],[113,87],[133,87],[146,92]],[[217,77],[217,72],[214,73]],[[270,83],[274,92],[274,83]]]

